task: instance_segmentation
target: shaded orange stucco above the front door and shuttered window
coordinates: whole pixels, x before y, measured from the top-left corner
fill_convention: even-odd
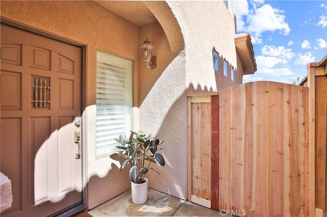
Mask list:
[[[139,55],[138,26],[91,1],[3,1],[1,16],[87,45],[87,105],[96,102],[96,49],[130,60]]]

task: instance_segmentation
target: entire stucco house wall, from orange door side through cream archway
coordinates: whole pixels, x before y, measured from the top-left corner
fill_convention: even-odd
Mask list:
[[[130,188],[128,170],[120,172],[119,165],[109,157],[96,158],[97,49],[133,61],[134,130],[143,129],[165,141],[162,153],[166,166],[156,168],[160,176],[149,172],[149,187],[182,199],[188,195],[187,94],[216,92],[242,83],[243,69],[237,62],[234,41],[235,20],[222,1],[150,1],[145,4],[159,18],[140,27],[92,1],[1,3],[2,17],[86,45],[83,118],[88,182],[85,203],[89,209]],[[167,20],[174,17],[167,16],[164,9],[171,10],[180,27],[182,38],[174,40],[177,49],[171,49],[174,34],[167,27]],[[146,68],[139,50],[147,37],[155,47],[156,69]],[[237,68],[234,82],[230,75],[215,73],[213,49]]]

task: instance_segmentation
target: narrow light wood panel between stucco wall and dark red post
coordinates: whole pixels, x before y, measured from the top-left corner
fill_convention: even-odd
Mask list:
[[[211,208],[211,98],[191,97],[191,202]]]

